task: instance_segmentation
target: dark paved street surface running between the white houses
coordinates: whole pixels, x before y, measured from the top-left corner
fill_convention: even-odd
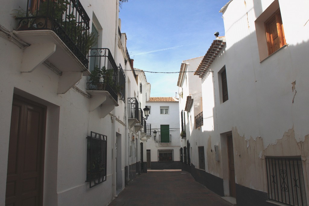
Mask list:
[[[221,197],[197,183],[185,171],[148,171],[137,176],[109,206],[205,205],[231,206]]]

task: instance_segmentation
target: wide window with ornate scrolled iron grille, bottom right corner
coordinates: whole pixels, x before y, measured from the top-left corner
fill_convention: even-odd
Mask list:
[[[307,206],[301,158],[266,158],[268,198],[286,205]]]

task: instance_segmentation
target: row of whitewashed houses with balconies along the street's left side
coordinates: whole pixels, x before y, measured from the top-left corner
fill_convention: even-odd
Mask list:
[[[139,171],[142,100],[119,1],[0,11],[0,205],[107,205]]]

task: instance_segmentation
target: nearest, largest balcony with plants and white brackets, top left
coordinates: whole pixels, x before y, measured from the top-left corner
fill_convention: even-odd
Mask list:
[[[16,10],[14,34],[30,44],[23,50],[21,72],[30,73],[45,62],[60,75],[57,93],[66,93],[90,74],[87,53],[94,40],[90,18],[76,0],[28,0],[20,7],[24,10]]]

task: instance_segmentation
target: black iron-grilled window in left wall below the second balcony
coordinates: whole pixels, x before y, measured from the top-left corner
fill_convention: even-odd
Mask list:
[[[89,187],[106,181],[107,136],[90,132],[87,137],[87,178]]]

